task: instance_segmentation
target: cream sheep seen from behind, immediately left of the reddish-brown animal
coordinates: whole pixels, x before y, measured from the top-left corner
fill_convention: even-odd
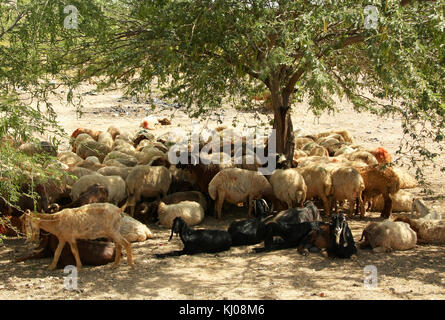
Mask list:
[[[359,207],[362,206],[362,192],[365,183],[360,173],[352,167],[339,167],[331,171],[332,194],[329,196],[330,202],[334,202],[335,213],[337,213],[337,201],[348,200],[349,217],[354,214],[355,200],[358,200]],[[363,212],[364,215],[364,212]]]

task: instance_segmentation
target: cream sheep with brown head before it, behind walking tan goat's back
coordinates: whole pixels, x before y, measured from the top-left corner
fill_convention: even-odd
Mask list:
[[[80,195],[94,184],[105,186],[108,190],[107,202],[119,205],[126,198],[125,180],[119,176],[87,175],[79,178],[71,188],[71,199],[76,201]]]

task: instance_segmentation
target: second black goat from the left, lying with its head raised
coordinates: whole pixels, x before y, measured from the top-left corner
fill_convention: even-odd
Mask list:
[[[263,240],[257,237],[257,230],[269,214],[269,206],[264,199],[255,200],[254,214],[255,218],[234,221],[230,224],[227,231],[232,237],[232,246],[252,245]]]

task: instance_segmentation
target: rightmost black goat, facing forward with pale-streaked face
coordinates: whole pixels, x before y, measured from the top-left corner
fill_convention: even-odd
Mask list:
[[[301,242],[299,251],[307,254],[307,248],[326,249],[330,257],[350,258],[357,252],[354,237],[345,216],[334,214],[329,225],[311,231]]]

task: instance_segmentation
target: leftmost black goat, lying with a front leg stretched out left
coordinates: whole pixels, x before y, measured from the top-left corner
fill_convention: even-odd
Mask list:
[[[157,254],[158,258],[165,256],[179,256],[195,253],[215,253],[229,250],[232,245],[230,233],[223,230],[194,230],[190,228],[181,217],[173,220],[172,233],[168,241],[173,238],[173,233],[179,234],[184,248],[167,254]]]

